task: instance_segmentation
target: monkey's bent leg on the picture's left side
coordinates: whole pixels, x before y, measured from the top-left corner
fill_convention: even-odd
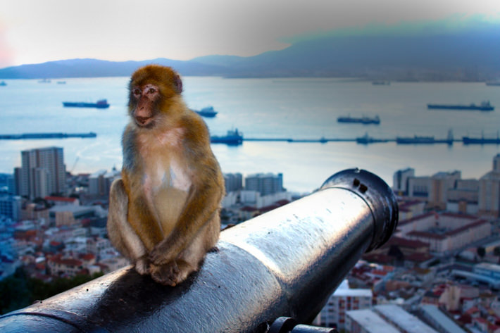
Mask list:
[[[108,237],[111,244],[129,259],[139,274],[149,273],[146,247],[127,220],[128,196],[123,180],[111,184],[109,194]]]

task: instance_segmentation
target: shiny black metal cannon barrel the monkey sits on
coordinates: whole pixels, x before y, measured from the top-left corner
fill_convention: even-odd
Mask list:
[[[387,184],[365,170],[220,234],[217,251],[177,287],[130,266],[0,318],[1,332],[268,332],[315,318],[356,261],[396,228]]]

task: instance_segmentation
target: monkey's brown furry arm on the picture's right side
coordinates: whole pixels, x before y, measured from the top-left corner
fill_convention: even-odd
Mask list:
[[[210,149],[208,130],[203,122],[188,128],[185,154],[193,169],[192,187],[173,232],[149,254],[149,260],[155,265],[175,260],[186,249],[201,228],[218,214],[224,193],[224,179]]]

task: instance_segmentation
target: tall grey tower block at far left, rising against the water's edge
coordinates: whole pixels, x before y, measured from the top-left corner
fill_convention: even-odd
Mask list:
[[[29,199],[65,194],[65,173],[62,148],[21,151],[19,194]]]

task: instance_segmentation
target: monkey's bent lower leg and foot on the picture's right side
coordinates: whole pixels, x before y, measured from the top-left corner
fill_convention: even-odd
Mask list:
[[[213,249],[220,232],[218,212],[199,230],[189,246],[175,260],[163,265],[151,265],[151,277],[156,282],[175,286],[180,284],[192,273],[199,270],[206,253]]]

